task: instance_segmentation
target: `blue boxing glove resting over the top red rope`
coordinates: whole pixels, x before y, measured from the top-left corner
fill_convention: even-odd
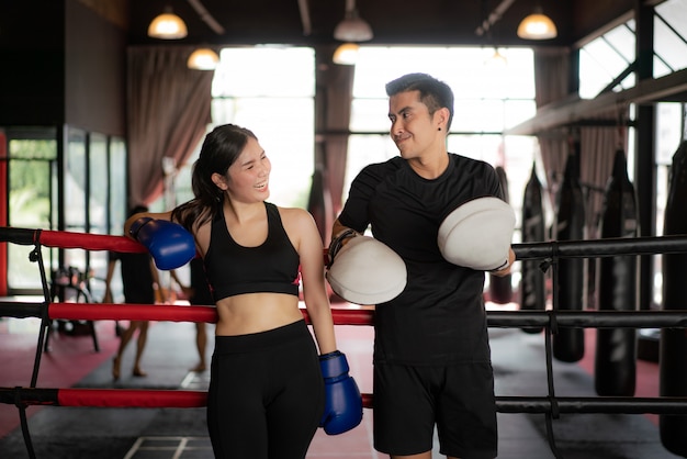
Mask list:
[[[177,269],[195,257],[193,235],[178,223],[142,216],[128,233],[148,249],[158,269]]]

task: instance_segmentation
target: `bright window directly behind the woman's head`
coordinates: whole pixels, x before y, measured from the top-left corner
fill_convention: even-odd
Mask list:
[[[315,54],[305,47],[225,48],[213,80],[214,124],[252,131],[272,172],[270,201],[307,206],[314,166]]]

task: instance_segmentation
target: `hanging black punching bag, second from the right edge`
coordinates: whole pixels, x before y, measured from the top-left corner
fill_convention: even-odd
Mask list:
[[[616,152],[613,171],[604,193],[600,237],[638,237],[634,187],[628,178],[623,150]],[[637,311],[638,259],[634,255],[599,259],[599,311]],[[599,328],[596,335],[594,377],[596,393],[633,396],[637,373],[637,331]]]

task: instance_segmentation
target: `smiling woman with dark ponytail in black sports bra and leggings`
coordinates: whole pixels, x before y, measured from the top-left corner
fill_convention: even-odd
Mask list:
[[[309,213],[266,201],[270,169],[250,131],[218,126],[193,167],[195,198],[168,213],[134,215],[124,226],[129,234],[140,217],[177,222],[203,257],[218,316],[207,394],[207,428],[218,458],[304,458],[317,426],[327,430],[327,377],[339,376],[328,374],[327,365],[346,363],[336,350],[322,238]],[[299,309],[300,280],[319,365]],[[348,365],[345,370],[354,385]],[[350,394],[350,387],[342,390]],[[360,422],[358,408],[352,411],[352,417],[344,413],[345,429]],[[361,417],[361,404],[359,411]],[[334,417],[341,419],[340,413]]]

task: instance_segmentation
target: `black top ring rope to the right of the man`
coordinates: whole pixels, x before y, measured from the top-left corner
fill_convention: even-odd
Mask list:
[[[556,240],[514,244],[516,259],[594,258],[618,255],[687,253],[687,235],[656,237],[608,237],[588,240]]]

